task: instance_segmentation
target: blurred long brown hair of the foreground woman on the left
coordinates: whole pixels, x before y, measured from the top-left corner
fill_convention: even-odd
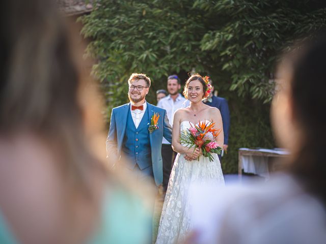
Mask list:
[[[53,133],[69,125],[64,120],[78,120],[77,72],[55,6],[8,1],[2,17],[0,129]]]

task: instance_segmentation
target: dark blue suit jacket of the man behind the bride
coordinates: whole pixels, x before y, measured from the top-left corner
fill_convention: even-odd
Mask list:
[[[228,145],[230,130],[230,111],[228,101],[225,98],[212,96],[212,102],[206,102],[205,104],[220,110],[223,122],[224,144]]]

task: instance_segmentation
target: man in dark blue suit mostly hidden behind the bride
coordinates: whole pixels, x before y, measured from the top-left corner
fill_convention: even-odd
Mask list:
[[[212,84],[212,79],[208,78],[209,83],[212,86],[211,93],[209,94],[208,98],[204,100],[204,103],[211,106],[218,108],[222,115],[223,121],[223,132],[224,132],[224,145],[223,145],[223,152],[227,153],[228,150],[228,140],[229,140],[229,130],[230,130],[230,111],[228,106],[228,101],[225,98],[216,97],[213,95],[214,86]],[[219,154],[220,161],[222,160],[222,155]]]

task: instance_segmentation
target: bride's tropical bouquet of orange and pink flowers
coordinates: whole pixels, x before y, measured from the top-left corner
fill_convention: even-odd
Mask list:
[[[209,161],[213,161],[213,154],[221,154],[222,148],[218,145],[215,137],[220,134],[220,130],[214,129],[215,123],[208,121],[199,122],[180,134],[180,143],[185,146],[194,147],[194,150],[199,147],[204,157],[208,157]]]

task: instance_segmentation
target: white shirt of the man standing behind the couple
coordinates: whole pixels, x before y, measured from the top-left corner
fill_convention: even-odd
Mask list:
[[[173,101],[171,95],[162,98],[158,101],[157,107],[167,110],[167,116],[171,127],[173,126],[173,117],[175,111],[177,111],[179,108],[185,108],[187,104],[185,101],[186,99],[182,97],[181,94],[178,94],[175,101]],[[168,142],[165,138],[163,138],[162,144],[171,144],[171,143]]]

